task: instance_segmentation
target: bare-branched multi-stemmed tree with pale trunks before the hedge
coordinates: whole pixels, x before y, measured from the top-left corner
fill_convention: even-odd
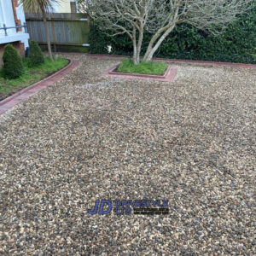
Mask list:
[[[79,0],[80,9],[102,24],[108,35],[126,34],[138,64],[144,32],[152,34],[143,61],[151,61],[160,44],[181,23],[218,35],[255,0]]]

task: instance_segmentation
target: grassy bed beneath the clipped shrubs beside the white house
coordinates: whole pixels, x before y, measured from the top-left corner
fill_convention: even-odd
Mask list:
[[[49,58],[44,59],[44,64],[38,67],[28,67],[28,59],[24,58],[23,63],[25,66],[25,73],[18,79],[4,79],[3,69],[0,71],[0,101],[4,98],[14,94],[16,91],[21,90],[31,84],[48,77],[50,74],[55,73],[62,67],[67,66],[68,61],[61,57],[55,61],[49,61]]]

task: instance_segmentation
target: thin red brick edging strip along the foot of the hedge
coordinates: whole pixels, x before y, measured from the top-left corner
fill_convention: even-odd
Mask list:
[[[94,56],[97,58],[130,58],[127,55],[96,55],[85,53],[84,55]],[[192,61],[192,60],[178,60],[178,59],[165,59],[165,58],[154,58],[156,61],[171,61],[174,63],[187,63],[187,64],[201,64],[205,66],[217,66],[217,67],[244,67],[244,68],[255,68],[256,64],[245,64],[245,63],[233,63],[233,62],[219,62],[219,61]]]

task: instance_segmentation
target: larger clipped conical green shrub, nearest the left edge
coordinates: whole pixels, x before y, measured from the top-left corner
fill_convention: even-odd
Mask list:
[[[17,49],[13,45],[7,44],[3,52],[3,76],[7,79],[16,79],[23,73],[23,62]]]

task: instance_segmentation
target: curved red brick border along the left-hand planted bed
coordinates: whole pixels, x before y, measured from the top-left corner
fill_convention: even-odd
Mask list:
[[[49,75],[49,77],[32,84],[22,90],[17,91],[12,96],[4,99],[0,102],[0,115],[13,108],[15,105],[18,105],[20,102],[26,101],[27,98],[30,96],[38,93],[40,90],[44,90],[44,88],[48,87],[49,85],[55,84],[55,82],[64,79],[64,77],[72,73],[73,70],[79,67],[79,61],[76,60],[69,60],[70,62],[67,64],[66,67],[63,67],[61,70]]]

